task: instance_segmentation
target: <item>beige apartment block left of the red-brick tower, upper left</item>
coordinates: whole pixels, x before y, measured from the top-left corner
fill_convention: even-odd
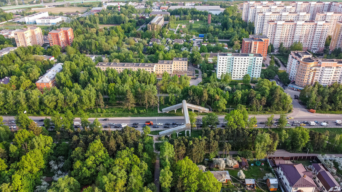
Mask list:
[[[42,45],[43,35],[42,30],[39,27],[29,27],[16,30],[14,32],[14,39],[17,46],[31,46],[31,45]]]

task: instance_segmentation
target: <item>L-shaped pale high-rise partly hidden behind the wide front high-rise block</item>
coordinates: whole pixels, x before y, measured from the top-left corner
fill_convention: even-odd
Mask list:
[[[310,13],[306,12],[258,12],[255,15],[254,34],[266,33],[268,20],[310,20]]]

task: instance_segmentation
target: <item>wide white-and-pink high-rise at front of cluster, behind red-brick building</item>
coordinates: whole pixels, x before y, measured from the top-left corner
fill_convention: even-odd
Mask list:
[[[294,42],[301,42],[303,50],[313,53],[322,52],[329,31],[326,21],[267,21],[266,36],[275,51],[281,42],[284,47],[290,47]]]

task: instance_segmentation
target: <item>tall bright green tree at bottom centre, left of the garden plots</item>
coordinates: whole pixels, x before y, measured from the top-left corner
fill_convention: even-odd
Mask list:
[[[197,191],[198,167],[188,157],[180,160],[175,165],[174,179],[176,191]]]

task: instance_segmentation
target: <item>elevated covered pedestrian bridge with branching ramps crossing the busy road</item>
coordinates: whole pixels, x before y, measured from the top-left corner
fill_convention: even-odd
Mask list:
[[[161,131],[161,132],[159,132],[160,136],[171,135],[172,133],[181,132],[181,131],[184,131],[187,129],[191,129],[188,108],[192,109],[193,112],[194,112],[194,110],[199,111],[201,113],[202,112],[206,112],[206,113],[209,112],[208,108],[201,107],[198,105],[188,104],[186,102],[186,100],[183,100],[182,103],[180,103],[180,104],[176,104],[176,105],[173,105],[170,107],[166,107],[166,108],[162,109],[161,111],[163,113],[165,113],[165,112],[168,113],[169,111],[175,110],[175,112],[176,112],[176,110],[179,108],[182,108],[182,113],[184,115],[185,124],[178,126],[178,127],[173,127],[173,128]]]

